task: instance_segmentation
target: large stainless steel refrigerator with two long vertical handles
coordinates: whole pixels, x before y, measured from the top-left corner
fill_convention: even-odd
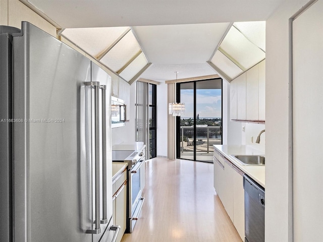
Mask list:
[[[0,31],[0,240],[113,241],[111,77],[30,23]]]

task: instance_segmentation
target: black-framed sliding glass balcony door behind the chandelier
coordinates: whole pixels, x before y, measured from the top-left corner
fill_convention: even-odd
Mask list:
[[[213,145],[222,144],[222,79],[177,83],[177,158],[213,162]]]

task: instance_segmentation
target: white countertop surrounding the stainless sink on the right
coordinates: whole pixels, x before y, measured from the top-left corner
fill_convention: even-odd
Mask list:
[[[264,155],[264,152],[256,150],[248,145],[213,145],[221,154],[226,156],[235,166],[254,179],[265,188],[264,165],[243,165],[231,155]]]

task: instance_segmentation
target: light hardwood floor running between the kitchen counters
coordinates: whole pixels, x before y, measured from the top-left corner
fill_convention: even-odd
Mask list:
[[[145,198],[122,242],[241,242],[213,188],[213,164],[154,158],[145,162]]]

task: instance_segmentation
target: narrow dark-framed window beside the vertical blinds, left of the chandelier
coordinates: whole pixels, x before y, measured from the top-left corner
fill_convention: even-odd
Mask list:
[[[149,84],[148,86],[148,115],[149,115],[149,159],[157,156],[157,116],[156,116],[156,85]]]

